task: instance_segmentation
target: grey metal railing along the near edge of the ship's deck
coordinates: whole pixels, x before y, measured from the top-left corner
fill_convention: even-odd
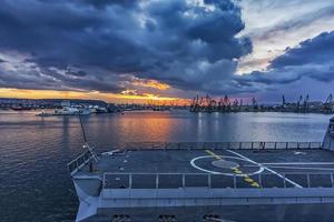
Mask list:
[[[332,173],[272,173],[225,175],[210,173],[104,173],[104,189],[299,189],[334,188]],[[247,180],[246,180],[247,179]],[[288,180],[287,180],[288,179]]]

